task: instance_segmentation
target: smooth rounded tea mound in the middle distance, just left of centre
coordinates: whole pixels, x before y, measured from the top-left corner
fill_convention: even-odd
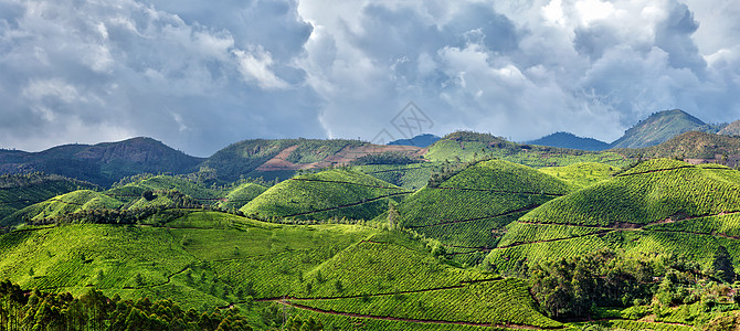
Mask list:
[[[364,173],[346,169],[303,174],[269,188],[240,211],[253,217],[371,220],[389,199],[409,192]]]

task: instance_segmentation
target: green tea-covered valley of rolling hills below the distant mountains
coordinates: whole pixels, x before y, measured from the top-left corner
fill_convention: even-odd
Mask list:
[[[740,172],[720,163],[738,148],[458,131],[426,148],[244,141],[109,185],[3,174],[0,324],[725,330],[740,316]],[[728,157],[684,161],[711,153]]]

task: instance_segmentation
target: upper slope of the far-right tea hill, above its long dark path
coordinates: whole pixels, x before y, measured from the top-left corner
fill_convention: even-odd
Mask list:
[[[718,172],[727,172],[719,175]],[[620,175],[529,212],[521,221],[606,226],[738,211],[740,173],[669,159],[651,160]]]

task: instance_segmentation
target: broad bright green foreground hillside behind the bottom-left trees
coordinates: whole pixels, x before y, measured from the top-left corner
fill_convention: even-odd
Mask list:
[[[279,328],[285,312],[332,329],[563,325],[538,312],[524,280],[454,268],[402,233],[358,225],[192,212],[167,228],[76,224],[0,243],[0,277],[22,288],[169,298],[183,310],[236,307],[257,329]]]

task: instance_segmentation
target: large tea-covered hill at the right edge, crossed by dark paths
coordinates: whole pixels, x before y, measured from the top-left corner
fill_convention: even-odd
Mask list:
[[[726,167],[645,161],[521,216],[487,263],[500,270],[612,247],[678,254],[706,267],[721,245],[737,264],[739,191],[740,172]]]

